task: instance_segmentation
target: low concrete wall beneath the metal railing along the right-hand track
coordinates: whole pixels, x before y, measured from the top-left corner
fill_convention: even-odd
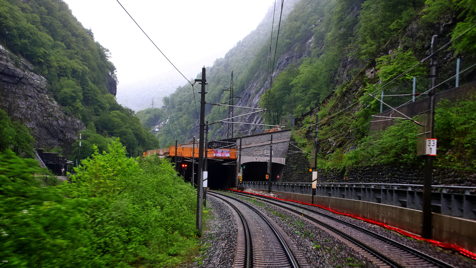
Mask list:
[[[255,189],[257,191],[263,191]],[[311,203],[312,196],[297,193],[272,191],[282,199]],[[390,206],[353,199],[314,196],[314,204],[341,213],[352,214],[385,223],[417,235],[421,234],[422,212],[401,206]],[[439,213],[433,215],[433,239],[454,244],[476,253],[476,220],[453,217]]]

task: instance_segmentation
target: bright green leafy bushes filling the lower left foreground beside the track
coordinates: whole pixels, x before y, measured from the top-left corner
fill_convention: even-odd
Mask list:
[[[42,187],[32,159],[0,154],[0,261],[4,267],[168,267],[198,246],[195,189],[159,156],[128,158],[117,141]],[[66,198],[65,198],[66,197]]]

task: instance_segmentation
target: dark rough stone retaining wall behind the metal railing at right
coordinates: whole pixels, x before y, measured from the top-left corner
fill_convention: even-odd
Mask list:
[[[311,182],[309,160],[304,154],[286,157],[282,182]],[[329,168],[317,171],[319,183],[395,183],[423,184],[423,166],[361,165],[347,168]],[[476,174],[466,170],[434,169],[433,185],[476,187]]]

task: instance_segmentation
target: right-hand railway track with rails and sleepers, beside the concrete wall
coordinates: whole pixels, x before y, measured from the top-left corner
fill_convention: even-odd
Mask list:
[[[455,268],[437,258],[426,255],[417,249],[408,247],[388,237],[359,227],[340,218],[329,216],[311,207],[298,206],[286,201],[236,193],[238,196],[258,198],[274,206],[278,206],[293,214],[304,217],[307,221],[327,231],[347,246],[353,248],[379,267],[391,268]]]

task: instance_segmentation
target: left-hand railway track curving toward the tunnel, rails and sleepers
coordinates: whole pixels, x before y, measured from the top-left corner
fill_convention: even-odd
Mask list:
[[[225,202],[239,217],[234,268],[308,267],[304,257],[281,228],[256,208],[232,196],[212,192],[207,194]]]

